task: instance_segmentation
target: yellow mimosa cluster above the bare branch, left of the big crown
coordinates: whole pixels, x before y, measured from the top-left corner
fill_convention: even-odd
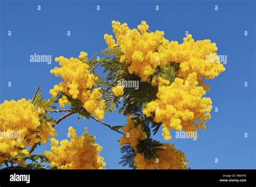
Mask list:
[[[97,77],[90,73],[87,62],[87,53],[81,52],[79,59],[71,57],[66,59],[63,56],[56,57],[56,62],[62,67],[51,69],[51,73],[64,79],[58,85],[55,85],[50,93],[56,97],[59,92],[64,92],[73,99],[78,98],[83,107],[99,119],[104,118],[104,100],[100,88],[93,89],[96,85]],[[93,90],[92,90],[93,89]],[[68,99],[62,97],[59,99],[60,107],[64,107]]]

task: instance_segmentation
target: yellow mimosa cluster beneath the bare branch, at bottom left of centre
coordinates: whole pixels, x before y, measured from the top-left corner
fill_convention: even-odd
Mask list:
[[[52,138],[51,152],[44,152],[51,168],[103,169],[106,166],[103,157],[99,156],[102,147],[95,143],[95,136],[86,131],[79,137],[73,127],[69,127],[69,133],[70,141],[62,140],[58,146],[58,140]]]

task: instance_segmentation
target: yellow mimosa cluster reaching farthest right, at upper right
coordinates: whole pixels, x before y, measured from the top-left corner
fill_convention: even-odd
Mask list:
[[[191,34],[188,34],[183,40],[183,44],[171,41],[167,46],[159,47],[160,53],[169,52],[169,55],[166,55],[168,61],[180,63],[178,77],[185,78],[188,74],[196,72],[198,80],[201,80],[202,77],[208,80],[225,71],[223,64],[220,63],[215,53],[218,48],[215,43],[211,43],[211,40],[198,40],[195,42]],[[207,61],[208,56],[211,56],[211,59],[214,56],[214,59],[217,60]]]

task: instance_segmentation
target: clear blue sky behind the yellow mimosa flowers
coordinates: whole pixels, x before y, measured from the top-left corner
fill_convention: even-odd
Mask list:
[[[41,11],[37,10],[41,5]],[[100,11],[96,6],[100,5]],[[159,11],[156,11],[159,5]],[[218,5],[218,11],[214,6]],[[207,81],[208,97],[218,112],[211,112],[206,130],[197,141],[175,139],[176,148],[185,152],[192,169],[255,169],[255,1],[1,1],[0,21],[0,103],[32,98],[39,85],[44,98],[61,79],[49,71],[57,66],[56,56],[76,57],[80,51],[92,56],[106,48],[103,35],[112,34],[111,21],[137,27],[145,20],[150,31],[161,30],[169,40],[183,41],[185,31],[195,40],[216,42],[219,55],[227,55],[226,71]],[[11,31],[11,37],[8,36]],[[66,32],[70,31],[68,37]],[[244,35],[244,31],[248,35]],[[51,55],[52,63],[31,63],[30,55]],[[102,68],[98,68],[102,74]],[[11,87],[8,87],[11,82]],[[244,82],[248,87],[244,87]],[[54,114],[57,119],[59,114]],[[124,125],[126,118],[106,114],[104,121]],[[120,134],[77,115],[57,127],[58,140],[66,139],[68,127],[78,135],[89,127],[108,169],[122,169]],[[248,133],[248,138],[244,138]],[[172,132],[174,136],[174,132]],[[159,131],[154,139],[166,142]],[[50,143],[34,153],[50,150]],[[214,159],[218,158],[218,163]],[[125,168],[127,169],[127,168]]]

